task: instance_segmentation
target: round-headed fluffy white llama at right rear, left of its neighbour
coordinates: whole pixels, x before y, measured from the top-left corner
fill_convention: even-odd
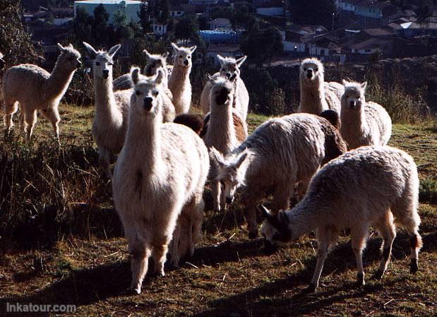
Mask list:
[[[304,59],[300,66],[301,101],[297,112],[321,114],[332,109],[340,114],[340,96],[343,88],[339,83],[325,83],[324,68],[318,59]]]

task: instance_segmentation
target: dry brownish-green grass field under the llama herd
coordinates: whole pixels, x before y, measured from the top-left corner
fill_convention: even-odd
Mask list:
[[[436,314],[437,131],[432,123],[396,124],[390,140],[419,167],[424,248],[417,275],[408,273],[409,243],[401,231],[387,275],[371,280],[381,244],[372,231],[364,253],[367,285],[355,287],[354,255],[342,234],[325,263],[320,291],[304,294],[316,263],[313,234],[265,255],[261,239],[247,239],[241,207],[212,213],[206,189],[204,241],[195,256],[180,269],[167,268],[165,277],[147,277],[143,293],[133,296],[125,292],[130,282],[126,241],[90,136],[93,110],[61,109],[61,148],[44,119],[35,128],[35,144],[0,141],[0,316],[7,301],[76,304],[77,316]],[[250,129],[265,119],[249,115]]]

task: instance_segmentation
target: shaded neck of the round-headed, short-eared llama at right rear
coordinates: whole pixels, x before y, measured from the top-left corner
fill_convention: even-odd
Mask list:
[[[325,85],[323,81],[318,83],[304,83],[301,80],[301,107],[304,105],[305,112],[321,114],[328,109],[325,100]]]

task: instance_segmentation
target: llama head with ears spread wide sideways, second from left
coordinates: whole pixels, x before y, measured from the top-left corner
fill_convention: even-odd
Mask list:
[[[114,55],[120,49],[121,45],[117,44],[108,52],[106,51],[96,51],[87,42],[83,42],[85,48],[87,49],[90,59],[92,60],[92,73],[94,78],[100,80],[107,80],[112,78],[112,66],[114,66]]]

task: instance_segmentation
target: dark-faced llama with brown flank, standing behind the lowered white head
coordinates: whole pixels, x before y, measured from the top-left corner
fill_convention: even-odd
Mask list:
[[[218,77],[212,81],[213,85],[210,90],[211,112],[208,121],[208,129],[203,136],[203,141],[207,148],[214,147],[223,155],[227,155],[241,143],[237,139],[236,126],[234,126],[234,115],[239,116],[234,104],[234,84],[229,80]],[[244,119],[244,139],[247,137],[247,126]],[[220,133],[217,133],[220,131]],[[242,134],[239,131],[239,134]],[[220,181],[216,179],[216,170],[211,169],[212,178],[211,189],[214,197],[214,210],[220,211],[226,208],[225,193],[221,191]]]

